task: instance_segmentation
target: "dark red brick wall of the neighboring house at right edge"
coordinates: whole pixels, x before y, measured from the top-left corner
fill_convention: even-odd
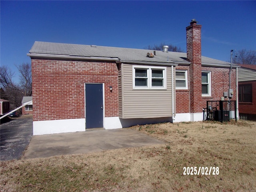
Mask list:
[[[238,103],[239,113],[242,114],[256,114],[256,81],[250,82],[238,82],[239,85],[242,84],[252,84],[252,103]]]

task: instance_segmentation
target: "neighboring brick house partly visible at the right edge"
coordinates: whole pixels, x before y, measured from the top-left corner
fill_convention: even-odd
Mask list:
[[[256,65],[238,69],[238,103],[241,119],[256,120]]]

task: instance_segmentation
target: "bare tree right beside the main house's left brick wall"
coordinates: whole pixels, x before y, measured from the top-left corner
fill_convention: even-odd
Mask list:
[[[22,63],[16,66],[20,72],[20,86],[23,90],[24,96],[32,96],[32,73],[31,64]]]

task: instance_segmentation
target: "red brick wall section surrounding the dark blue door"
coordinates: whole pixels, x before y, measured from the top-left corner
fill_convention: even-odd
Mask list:
[[[35,58],[31,63],[34,121],[84,118],[84,83],[104,83],[105,117],[118,116],[116,63]]]

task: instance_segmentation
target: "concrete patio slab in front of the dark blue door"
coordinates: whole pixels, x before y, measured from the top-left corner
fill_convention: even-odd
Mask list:
[[[164,142],[130,129],[92,130],[85,132],[33,136],[22,158],[83,154],[109,149],[140,147]]]

